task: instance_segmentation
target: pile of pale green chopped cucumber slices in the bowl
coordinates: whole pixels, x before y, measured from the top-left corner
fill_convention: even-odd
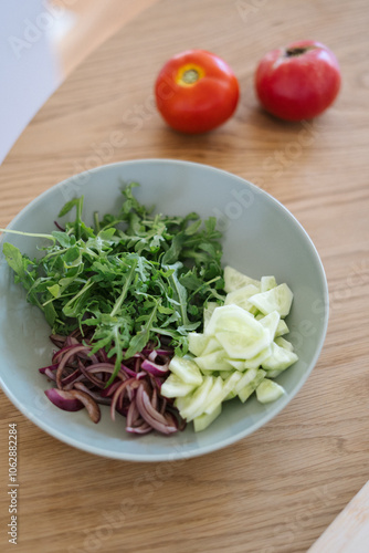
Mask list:
[[[224,305],[209,302],[203,313],[203,334],[189,334],[194,357],[175,356],[172,374],[161,387],[194,431],[207,428],[221,413],[222,403],[239,396],[242,403],[256,390],[261,403],[277,399],[284,389],[271,378],[297,361],[282,320],[291,310],[293,294],[272,275],[261,281],[231,267],[224,269]],[[262,367],[262,368],[260,368]],[[202,373],[202,374],[201,374]]]

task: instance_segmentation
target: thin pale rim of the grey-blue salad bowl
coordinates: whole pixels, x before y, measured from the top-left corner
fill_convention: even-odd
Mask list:
[[[118,451],[108,451],[107,452],[107,451],[105,451],[101,447],[95,447],[93,445],[85,444],[85,442],[81,444],[78,440],[76,440],[74,438],[71,438],[66,434],[61,432],[60,430],[50,427],[48,425],[48,422],[43,421],[40,417],[36,417],[33,414],[30,414],[28,411],[28,409],[17,398],[17,396],[14,396],[14,394],[9,389],[7,383],[4,382],[2,375],[0,374],[0,386],[1,386],[2,390],[4,392],[4,394],[8,396],[8,398],[11,400],[11,403],[29,420],[31,420],[33,424],[35,424],[39,428],[41,428],[46,434],[49,434],[50,436],[59,439],[60,441],[62,441],[64,444],[67,444],[67,445],[72,446],[72,447],[74,447],[76,449],[82,450],[82,451],[86,451],[86,452],[89,452],[89,453],[93,453],[93,455],[96,455],[96,456],[99,456],[99,457],[109,458],[109,459],[116,459],[116,460],[136,461],[136,462],[178,461],[178,460],[190,459],[190,458],[193,458],[193,457],[200,457],[200,456],[213,452],[213,451],[218,451],[220,449],[223,449],[223,448],[225,448],[228,446],[231,446],[232,444],[235,444],[235,442],[240,441],[241,439],[243,439],[243,438],[252,435],[253,432],[255,432],[256,430],[259,430],[261,427],[263,427],[264,425],[266,425],[267,422],[270,422],[270,420],[272,420],[275,416],[277,416],[286,407],[286,405],[288,403],[291,403],[292,399],[298,394],[298,392],[301,390],[301,388],[304,386],[305,382],[309,377],[313,368],[315,367],[315,365],[316,365],[316,363],[317,363],[317,361],[318,361],[318,358],[320,356],[320,353],[321,353],[321,349],[323,349],[323,346],[324,346],[324,342],[325,342],[325,338],[326,338],[327,328],[328,328],[328,320],[329,320],[328,283],[327,283],[327,278],[326,278],[326,273],[325,273],[325,270],[324,270],[324,265],[323,265],[321,259],[319,257],[319,253],[318,253],[318,251],[317,251],[317,249],[316,249],[313,240],[310,239],[310,237],[308,236],[308,233],[306,232],[306,230],[304,229],[304,227],[302,226],[302,223],[297,220],[297,218],[280,200],[277,200],[270,192],[265,191],[263,188],[257,187],[253,182],[250,182],[249,180],[246,180],[243,177],[240,177],[239,175],[230,173],[230,171],[228,171],[225,169],[221,169],[221,168],[214,167],[212,165],[201,164],[201,163],[197,163],[197,161],[189,161],[189,160],[183,160],[183,159],[171,159],[171,158],[137,158],[137,159],[115,161],[115,163],[112,163],[112,164],[105,164],[105,165],[101,165],[101,166],[94,167],[92,169],[87,169],[85,171],[72,175],[71,177],[67,177],[67,178],[63,179],[62,181],[60,181],[60,182],[51,186],[50,188],[48,188],[46,190],[44,190],[42,194],[40,194],[39,196],[36,196],[33,200],[31,200],[11,220],[11,222],[6,227],[6,229],[17,230],[17,225],[18,225],[19,220],[21,220],[22,217],[29,210],[32,210],[33,207],[41,199],[46,198],[49,195],[53,195],[55,192],[55,190],[62,188],[67,182],[73,181],[73,179],[77,179],[77,178],[84,177],[86,175],[91,175],[93,173],[98,173],[98,171],[107,169],[109,167],[122,167],[122,166],[126,167],[126,166],[129,166],[129,165],[134,166],[134,165],[137,165],[137,164],[138,165],[152,165],[154,164],[154,165],[166,165],[166,166],[167,165],[172,165],[172,166],[181,165],[181,166],[187,166],[187,167],[191,166],[191,167],[194,167],[194,168],[201,168],[201,169],[204,169],[204,170],[209,170],[210,173],[223,174],[228,178],[231,177],[232,179],[238,180],[240,184],[246,185],[246,186],[251,187],[251,189],[254,190],[256,194],[259,194],[261,196],[264,196],[265,199],[267,199],[272,204],[275,204],[278,207],[278,209],[281,209],[282,211],[284,211],[285,216],[287,216],[289,219],[292,219],[293,222],[295,223],[295,226],[299,229],[301,233],[304,236],[304,238],[306,240],[306,243],[307,243],[307,246],[308,246],[312,254],[314,255],[314,258],[317,261],[317,268],[318,268],[318,271],[319,271],[319,278],[320,278],[320,281],[321,281],[323,288],[324,288],[324,306],[325,306],[325,313],[324,313],[324,321],[323,321],[321,333],[320,333],[320,335],[318,337],[318,342],[317,342],[317,346],[316,346],[314,356],[313,356],[313,358],[312,358],[308,367],[306,368],[304,375],[302,376],[302,378],[299,379],[299,382],[296,385],[295,389],[293,390],[293,393],[288,394],[288,396],[285,395],[284,397],[282,397],[281,400],[277,404],[275,404],[275,406],[274,406],[275,408],[274,409],[271,409],[264,417],[262,417],[259,421],[253,422],[244,431],[238,432],[235,435],[231,435],[230,437],[223,439],[222,441],[213,444],[213,445],[210,445],[210,446],[202,446],[201,448],[189,449],[187,451],[175,451],[175,452],[171,452],[171,453],[167,453],[167,452],[165,452],[165,453],[152,453],[152,455],[148,456],[147,453],[145,453],[145,455],[138,455],[138,453],[127,453],[125,451],[119,451],[119,452]],[[0,244],[6,241],[4,239],[6,239],[6,232],[3,232],[2,234],[0,234]]]

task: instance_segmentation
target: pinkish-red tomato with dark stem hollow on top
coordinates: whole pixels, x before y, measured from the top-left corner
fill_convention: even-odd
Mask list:
[[[286,121],[309,119],[336,98],[340,71],[324,44],[301,41],[268,52],[255,74],[255,88],[265,109]]]

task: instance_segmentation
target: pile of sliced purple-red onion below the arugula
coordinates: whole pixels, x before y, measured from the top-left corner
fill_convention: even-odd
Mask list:
[[[115,372],[115,356],[108,357],[105,349],[92,355],[91,336],[91,332],[80,328],[66,338],[53,335],[60,351],[54,353],[52,365],[40,368],[40,373],[56,380],[57,388],[46,393],[54,405],[65,410],[85,406],[94,422],[101,417],[98,404],[110,405],[112,419],[118,411],[126,417],[127,432],[137,435],[154,429],[170,435],[186,425],[173,401],[160,395],[172,351],[148,344],[143,352],[125,359],[114,382],[106,387]]]

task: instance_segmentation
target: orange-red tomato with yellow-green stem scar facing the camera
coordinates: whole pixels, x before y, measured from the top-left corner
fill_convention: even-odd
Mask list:
[[[229,65],[204,50],[188,50],[169,60],[156,84],[157,107],[182,133],[205,133],[224,123],[239,101],[239,82]]]

